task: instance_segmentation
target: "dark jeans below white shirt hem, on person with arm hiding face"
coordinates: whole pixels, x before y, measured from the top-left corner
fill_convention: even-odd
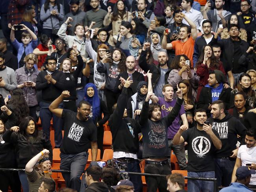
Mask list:
[[[117,159],[117,161],[119,161],[119,159]],[[141,173],[141,168],[139,166],[138,160],[134,160],[133,162],[130,162],[130,163],[122,162],[122,164],[125,164],[127,166],[127,168],[125,169],[126,172]],[[134,184],[134,191],[142,192],[143,185],[142,185],[141,175],[129,175],[129,177],[130,177],[130,181],[132,181],[132,183]]]

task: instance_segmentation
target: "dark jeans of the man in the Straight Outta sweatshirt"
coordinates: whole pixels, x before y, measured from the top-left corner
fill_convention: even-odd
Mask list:
[[[229,186],[236,161],[228,158],[215,158],[215,176],[218,186]]]

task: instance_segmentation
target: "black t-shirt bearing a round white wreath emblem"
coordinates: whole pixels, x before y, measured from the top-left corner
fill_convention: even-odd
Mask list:
[[[212,129],[213,133],[219,138],[219,133]],[[182,137],[188,145],[188,164],[187,171],[207,172],[214,171],[214,151],[215,147],[211,137],[197,127],[187,129],[182,133]],[[219,138],[220,139],[220,138]]]

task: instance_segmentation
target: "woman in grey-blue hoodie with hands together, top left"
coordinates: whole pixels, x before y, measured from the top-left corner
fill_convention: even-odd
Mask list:
[[[58,0],[46,0],[41,7],[40,20],[43,21],[43,34],[51,38],[52,42],[55,42],[55,39],[58,38],[57,32],[63,18],[63,7]]]

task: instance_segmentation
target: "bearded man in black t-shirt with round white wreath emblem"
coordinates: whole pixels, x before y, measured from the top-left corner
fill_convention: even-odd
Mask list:
[[[207,115],[204,109],[195,111],[194,120],[197,126],[187,129],[182,125],[173,138],[173,144],[188,144],[187,176],[215,178],[214,151],[221,149],[219,133],[206,124]],[[207,162],[207,163],[206,163]],[[213,191],[213,182],[188,180],[188,192]]]

